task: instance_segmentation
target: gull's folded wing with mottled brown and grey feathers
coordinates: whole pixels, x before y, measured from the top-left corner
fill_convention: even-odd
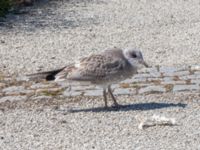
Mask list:
[[[77,81],[106,80],[121,72],[124,65],[125,61],[123,59],[101,54],[90,55],[75,64],[67,66],[55,78],[56,80],[69,79]]]

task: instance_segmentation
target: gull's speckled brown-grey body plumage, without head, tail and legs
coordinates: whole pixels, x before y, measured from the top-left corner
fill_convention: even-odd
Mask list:
[[[115,57],[113,57],[115,56]],[[93,54],[67,66],[56,79],[90,81],[95,84],[114,83],[133,74],[123,57],[121,49],[111,49],[102,54]]]

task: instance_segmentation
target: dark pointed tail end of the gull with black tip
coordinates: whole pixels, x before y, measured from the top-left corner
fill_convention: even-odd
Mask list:
[[[47,81],[51,81],[51,80],[55,80],[55,76],[61,72],[63,68],[60,69],[56,69],[56,70],[52,70],[52,71],[46,71],[46,72],[39,72],[39,73],[34,73],[34,74],[29,74],[27,75],[27,77],[30,80],[47,80]]]

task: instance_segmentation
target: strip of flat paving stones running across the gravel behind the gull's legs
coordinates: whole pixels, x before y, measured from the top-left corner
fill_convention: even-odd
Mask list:
[[[102,88],[79,83],[46,82],[35,83],[26,76],[9,77],[2,75],[0,102],[22,99],[49,99],[52,96],[102,96]],[[116,95],[137,95],[152,93],[200,92],[200,65],[182,68],[144,68],[120,84],[112,85]]]

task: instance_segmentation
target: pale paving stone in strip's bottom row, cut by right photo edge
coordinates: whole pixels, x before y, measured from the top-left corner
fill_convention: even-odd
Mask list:
[[[199,89],[200,89],[199,85],[175,85],[173,88],[173,92],[197,91]]]

